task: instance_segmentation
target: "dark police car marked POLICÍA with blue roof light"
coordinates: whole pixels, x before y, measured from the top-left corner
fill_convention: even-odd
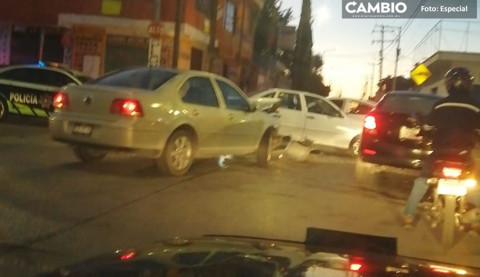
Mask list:
[[[56,63],[0,68],[0,121],[10,113],[48,118],[60,87],[90,79]]]

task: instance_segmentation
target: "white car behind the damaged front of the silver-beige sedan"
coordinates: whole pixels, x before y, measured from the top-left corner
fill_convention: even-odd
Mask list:
[[[280,107],[273,113],[280,136],[358,154],[363,118],[350,117],[328,98],[304,91],[274,88],[251,97],[267,98],[281,99]]]

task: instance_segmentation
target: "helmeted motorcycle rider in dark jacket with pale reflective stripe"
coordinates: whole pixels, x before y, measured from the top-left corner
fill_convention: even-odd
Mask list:
[[[465,67],[454,67],[445,75],[448,96],[434,106],[422,126],[432,133],[432,150],[414,181],[404,212],[404,226],[412,227],[417,206],[428,189],[427,179],[437,157],[468,155],[475,147],[476,129],[480,129],[480,107],[471,95],[473,75]],[[480,204],[480,203],[479,203]]]

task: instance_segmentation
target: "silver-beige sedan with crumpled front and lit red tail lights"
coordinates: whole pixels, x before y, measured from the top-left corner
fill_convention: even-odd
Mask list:
[[[263,102],[249,103],[235,84],[214,74],[130,68],[62,88],[50,134],[84,163],[120,150],[149,153],[160,170],[177,176],[194,158],[227,154],[256,153],[267,166],[276,123],[261,104],[275,101]]]

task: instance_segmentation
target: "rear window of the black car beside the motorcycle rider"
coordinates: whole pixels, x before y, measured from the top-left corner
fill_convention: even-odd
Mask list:
[[[428,114],[440,98],[416,95],[387,95],[377,105],[377,110],[388,112]]]

